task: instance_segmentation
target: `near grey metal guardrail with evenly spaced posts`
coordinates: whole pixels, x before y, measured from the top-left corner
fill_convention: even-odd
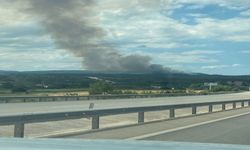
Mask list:
[[[91,118],[92,129],[98,129],[99,120],[101,116],[138,113],[138,123],[143,123],[144,113],[149,111],[169,110],[169,118],[175,118],[175,109],[192,108],[192,115],[195,115],[197,113],[197,107],[200,106],[208,106],[208,112],[211,113],[213,112],[213,105],[222,105],[222,111],[224,111],[226,110],[226,104],[232,104],[232,109],[236,109],[237,103],[241,103],[241,107],[245,107],[245,102],[247,102],[249,107],[250,100],[246,99],[246,100],[235,100],[235,101],[218,101],[218,102],[189,103],[189,104],[175,104],[175,105],[143,106],[143,107],[112,108],[112,109],[101,109],[101,110],[0,116],[0,125],[14,125],[15,126],[14,136],[24,137],[24,125],[27,123]]]

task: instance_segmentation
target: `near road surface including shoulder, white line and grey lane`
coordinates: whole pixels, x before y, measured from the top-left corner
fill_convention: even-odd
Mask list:
[[[250,145],[250,108],[59,137]]]

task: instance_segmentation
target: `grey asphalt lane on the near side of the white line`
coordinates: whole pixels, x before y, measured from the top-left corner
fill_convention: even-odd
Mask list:
[[[201,143],[250,145],[250,114],[145,138],[157,141],[185,141]]]

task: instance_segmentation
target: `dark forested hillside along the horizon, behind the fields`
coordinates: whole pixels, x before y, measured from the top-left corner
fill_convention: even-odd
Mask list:
[[[0,89],[88,88],[98,80],[110,81],[118,89],[202,89],[205,82],[217,82],[224,88],[247,90],[250,76],[221,76],[184,73],[102,73],[91,71],[0,71]],[[45,86],[46,85],[46,86]]]

